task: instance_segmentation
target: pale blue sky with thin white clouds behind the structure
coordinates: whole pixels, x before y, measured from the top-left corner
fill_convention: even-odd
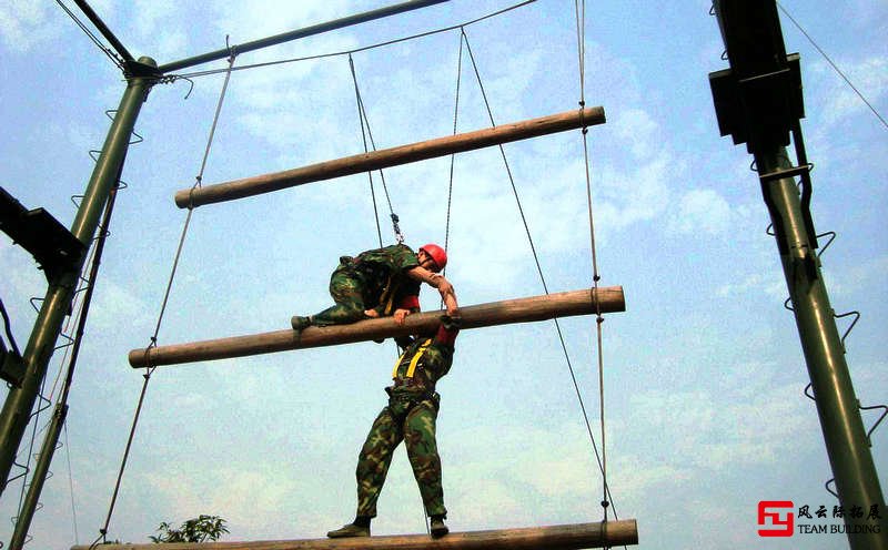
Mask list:
[[[160,63],[385,6],[380,1],[94,1],[134,55]],[[452,2],[245,53],[238,64],[339,52],[462,23],[511,2]],[[882,116],[888,6],[781,2]],[[297,6],[297,8],[295,7]],[[745,146],[719,138],[708,73],[727,67],[709,2],[589,2],[585,99],[608,122],[589,130],[602,285],[627,310],[604,323],[607,476],[640,547],[806,548],[844,536],[756,534],[760,500],[831,507],[831,476],[768,215]],[[838,238],[823,256],[837,313],[858,309],[847,360],[864,405],[888,401],[886,126],[807,39],[801,55],[813,215]],[[574,2],[541,0],[466,28],[497,123],[575,109],[581,96]],[[354,55],[377,146],[453,131],[460,37],[453,31]],[[70,195],[92,167],[123,91],[119,71],[53,2],[0,7],[2,186],[70,225]],[[223,62],[209,68],[218,69]],[[201,68],[203,69],[203,68]],[[221,75],[158,85],[137,124],[72,389],[68,434],[33,521],[33,548],[90,543],[104,522],[142,386],[127,353],[154,330],[185,213],[173,194],[200,170]],[[457,126],[490,125],[463,67]],[[205,183],[363,151],[345,57],[232,75]],[[579,132],[505,146],[552,292],[592,285]],[[443,242],[450,159],[385,173],[407,243]],[[377,182],[379,179],[375,177]],[[377,198],[381,198],[377,189]],[[385,205],[380,203],[385,213]],[[392,241],[383,217],[383,237]],[[377,244],[364,175],[198,208],[159,342],[289,327],[327,305],[341,254]],[[496,149],[461,154],[453,179],[448,278],[463,305],[543,293]],[[28,339],[46,279],[0,237],[0,296]],[[437,308],[426,288],[424,309]],[[847,326],[839,320],[840,329]],[[601,442],[595,323],[562,322]],[[50,367],[47,394],[60,368]],[[373,343],[161,367],[152,376],[109,536],[145,542],[161,521],[228,520],[226,540],[322,537],[354,512],[355,459],[385,403],[394,346]],[[595,464],[554,325],[466,330],[443,395],[438,439],[453,530],[597,521]],[[46,418],[46,417],[44,417]],[[876,415],[868,412],[865,425]],[[43,420],[38,425],[42,427]],[[885,429],[871,448],[888,465]],[[22,458],[24,455],[22,454]],[[70,470],[69,470],[70,464]],[[884,481],[884,478],[882,478]],[[20,483],[0,501],[10,517]],[[74,519],[75,518],[75,519]],[[12,528],[0,523],[8,540]],[[398,451],[374,522],[423,532],[418,491]]]

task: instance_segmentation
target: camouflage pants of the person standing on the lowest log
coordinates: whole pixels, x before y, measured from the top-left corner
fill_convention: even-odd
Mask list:
[[[428,516],[447,513],[435,441],[436,417],[437,404],[431,398],[417,403],[395,396],[389,400],[389,406],[373,422],[357,458],[357,516],[376,517],[376,500],[392,464],[392,455],[402,440],[407,447],[425,512]]]

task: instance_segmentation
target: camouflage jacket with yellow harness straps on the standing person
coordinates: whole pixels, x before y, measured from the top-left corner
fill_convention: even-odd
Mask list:
[[[394,385],[386,388],[389,395],[434,394],[435,384],[453,365],[454,342],[458,333],[460,319],[442,315],[435,336],[411,339],[392,370]],[[404,344],[403,340],[398,343]]]

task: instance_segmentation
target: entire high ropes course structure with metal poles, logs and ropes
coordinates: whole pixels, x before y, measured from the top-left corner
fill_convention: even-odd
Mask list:
[[[203,342],[161,346],[157,342],[158,332],[170,296],[170,287],[172,286],[175,275],[175,267],[182,249],[182,242],[184,242],[189,222],[195,208],[213,203],[271,193],[287,187],[351,174],[365,172],[370,174],[373,171],[382,171],[383,169],[406,163],[414,163],[444,155],[455,155],[456,153],[491,146],[500,146],[503,160],[506,164],[506,171],[508,172],[508,163],[505,152],[502,149],[504,143],[573,130],[582,131],[581,135],[586,155],[586,187],[593,257],[592,286],[569,292],[549,293],[542,269],[539,269],[539,262],[537,261],[537,269],[539,271],[545,289],[544,295],[467,305],[461,307],[461,315],[463,318],[463,328],[466,329],[514,323],[532,323],[544,319],[556,319],[555,326],[557,328],[558,318],[581,315],[594,315],[596,317],[598,377],[602,393],[601,451],[592,436],[592,428],[588,426],[588,419],[586,419],[586,425],[603,476],[604,495],[601,502],[603,518],[592,522],[575,524],[452,532],[447,537],[436,540],[432,540],[427,534],[407,534],[346,540],[319,539],[212,542],[201,544],[173,543],[169,544],[169,548],[181,550],[192,548],[230,550],[539,548],[568,550],[638,543],[638,531],[635,520],[617,518],[616,510],[613,507],[610,487],[607,482],[607,460],[604,440],[605,415],[604,378],[602,375],[602,323],[603,314],[624,312],[626,307],[622,287],[598,286],[601,276],[598,275],[595,254],[596,245],[589,190],[589,163],[588,147],[586,146],[586,132],[589,126],[605,123],[605,112],[601,106],[586,106],[585,99],[582,95],[584,88],[583,67],[585,51],[585,35],[582,31],[584,28],[583,19],[585,18],[584,2],[577,0],[575,3],[581,80],[578,109],[506,124],[495,123],[491,115],[491,128],[463,133],[456,132],[456,124],[454,122],[454,133],[452,135],[430,138],[426,141],[376,150],[372,134],[370,133],[369,122],[366,122],[364,105],[355,78],[354,84],[361,111],[362,131],[365,132],[364,153],[281,172],[203,185],[203,167],[205,166],[206,156],[212,145],[213,133],[225,96],[229,79],[232,72],[235,71],[234,62],[238,55],[329,30],[385,18],[408,10],[425,8],[442,1],[445,0],[407,1],[389,8],[352,16],[275,37],[235,47],[230,45],[222,50],[162,65],[158,65],[150,58],[143,57],[138,60],[133,58],[87,2],[82,0],[77,1],[82,12],[113,48],[113,51],[107,48],[103,50],[123,71],[127,78],[127,90],[119,109],[113,115],[113,123],[108,133],[105,143],[98,155],[95,169],[80,203],[77,218],[70,231],[57,226],[58,223],[53,225],[51,220],[34,220],[34,216],[29,216],[29,213],[26,212],[14,198],[7,195],[3,196],[2,216],[4,221],[4,231],[10,233],[13,240],[19,244],[32,252],[47,272],[50,283],[34,325],[36,328],[24,350],[20,353],[18,348],[14,347],[9,350],[6,349],[6,347],[2,349],[3,378],[13,385],[4,404],[2,416],[0,416],[0,476],[2,476],[4,480],[3,489],[6,489],[9,482],[10,470],[14,464],[17,450],[29,424],[29,415],[38,400],[39,387],[46,377],[48,361],[52,350],[56,348],[63,319],[70,313],[75,295],[74,289],[78,288],[81,281],[87,283],[87,292],[84,293],[83,304],[81,305],[81,324],[78,329],[78,338],[74,339],[72,357],[62,391],[63,397],[60,398],[57,404],[52,422],[47,430],[44,444],[40,452],[40,460],[33,468],[32,482],[21,507],[16,532],[9,543],[9,548],[21,549],[24,546],[30,519],[37,508],[37,499],[40,495],[49,462],[52,459],[52,452],[58,444],[61,427],[64,422],[68,410],[68,405],[65,403],[68,389],[73,379],[73,366],[79,347],[79,337],[82,336],[82,323],[85,320],[89,298],[91,297],[92,286],[90,282],[94,281],[97,274],[115,192],[120,186],[120,175],[122,173],[128,146],[131,144],[131,139],[134,135],[133,128],[140,109],[145,102],[149,91],[155,84],[212,73],[213,71],[206,71],[186,75],[179,73],[179,71],[222,59],[229,60],[229,67],[225,70],[216,71],[225,73],[225,81],[208,140],[203,165],[201,166],[196,183],[190,189],[179,191],[174,196],[175,204],[180,208],[185,208],[188,214],[170,275],[167,294],[161,306],[157,329],[147,347],[133,349],[129,354],[129,363],[133,368],[145,369],[144,386],[137,407],[135,418],[132,422],[132,429],[118,475],[117,486],[111,497],[108,517],[104,526],[100,529],[99,539],[97,539],[93,544],[73,548],[78,550],[92,549],[100,542],[103,544],[103,548],[111,550],[117,548],[155,548],[153,544],[108,543],[103,539],[108,533],[127,458],[133,444],[133,435],[142,409],[142,399],[144,398],[145,388],[151,379],[151,374],[157,367],[244,357],[299,348],[379,340],[400,335],[416,334],[434,327],[441,314],[441,312],[426,312],[411,315],[403,325],[396,324],[392,318],[376,318],[361,320],[352,325],[309,327],[302,332],[287,328],[262,334],[229,336]],[[502,10],[501,12],[532,2],[533,0],[523,2],[507,10]],[[501,12],[482,19],[496,16]],[[790,288],[794,312],[803,337],[803,347],[806,352],[813,389],[817,396],[818,411],[820,414],[821,424],[824,425],[827,450],[836,476],[839,498],[841,501],[881,502],[884,506],[884,498],[878,487],[878,479],[872,459],[865,445],[866,436],[864,434],[860,416],[859,414],[855,414],[857,408],[856,404],[852,404],[854,391],[847,373],[847,365],[845,365],[844,357],[840,353],[840,342],[835,322],[829,318],[829,316],[824,315],[825,310],[829,310],[829,305],[823,279],[819,277],[819,263],[816,262],[811,255],[811,251],[817,247],[817,235],[814,232],[808,211],[808,202],[810,198],[810,170],[805,159],[801,134],[798,126],[798,119],[803,113],[800,109],[801,88],[797,68],[797,57],[786,54],[777,19],[776,4],[773,0],[715,1],[714,14],[718,17],[730,62],[730,69],[710,75],[713,96],[718,113],[719,130],[723,135],[731,134],[735,143],[747,143],[749,152],[756,157],[757,170],[765,194],[765,202],[771,214],[774,234],[778,242],[778,248],[787,273],[787,284]],[[473,68],[475,69],[475,74],[478,78],[478,85],[483,92],[483,83],[481,82],[477,67],[474,67],[474,57],[472,55],[468,38],[465,33],[465,27],[475,21],[444,30],[458,30],[461,32],[461,60],[462,48],[463,44],[465,44]],[[351,53],[353,52],[344,53],[349,54],[351,62]],[[249,68],[250,67],[240,67],[236,70]],[[354,77],[354,71],[352,74]],[[486,103],[486,95],[484,99]],[[490,104],[487,103],[486,106],[490,113]],[[789,134],[793,135],[793,142],[796,145],[796,156],[798,160],[796,165],[788,162],[788,156],[784,149],[789,143]],[[370,138],[372,147],[367,144],[367,138]],[[803,180],[800,200],[796,192],[797,184],[795,177],[800,177]],[[384,179],[383,187],[385,189]],[[387,189],[385,189],[385,196],[386,200],[389,200]],[[517,192],[515,193],[515,198],[518,203],[518,210],[521,211],[521,201],[518,200]],[[398,217],[391,208],[391,200],[389,200],[389,206],[395,237],[401,242],[403,236],[398,227]],[[524,214],[522,211],[522,218]],[[450,212],[447,220],[450,221]],[[99,230],[100,236],[95,240],[97,245],[91,249],[90,257],[92,259],[88,262],[87,249],[89,246],[87,243],[93,241],[93,235],[97,234],[97,230]],[[43,240],[34,238],[33,235],[37,231],[43,234],[50,231],[51,242],[47,243]],[[527,232],[527,236],[535,256],[536,252],[533,240],[529,238],[529,231]],[[799,246],[799,242],[806,243],[806,245]],[[380,244],[382,245],[381,234]],[[91,269],[89,276],[84,277],[82,273],[88,264],[91,265]],[[561,334],[559,328],[558,332]],[[563,340],[562,346],[564,346]],[[574,380],[574,384],[576,385],[576,380]],[[583,408],[583,410],[585,415],[585,408]],[[613,518],[610,516],[613,516]],[[848,521],[855,520],[849,519]],[[850,538],[850,542],[854,548],[860,549],[885,548],[885,539],[879,537],[878,533],[872,538],[866,536],[854,537]]]

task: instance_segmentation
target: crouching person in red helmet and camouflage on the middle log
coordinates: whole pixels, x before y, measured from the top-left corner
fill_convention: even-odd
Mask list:
[[[395,244],[340,257],[330,277],[330,295],[335,305],[307,317],[294,316],[293,328],[347,325],[361,319],[393,316],[398,324],[420,310],[420,285],[437,288],[450,315],[458,310],[453,285],[438,272],[447,265],[447,254],[436,244],[414,253]]]

